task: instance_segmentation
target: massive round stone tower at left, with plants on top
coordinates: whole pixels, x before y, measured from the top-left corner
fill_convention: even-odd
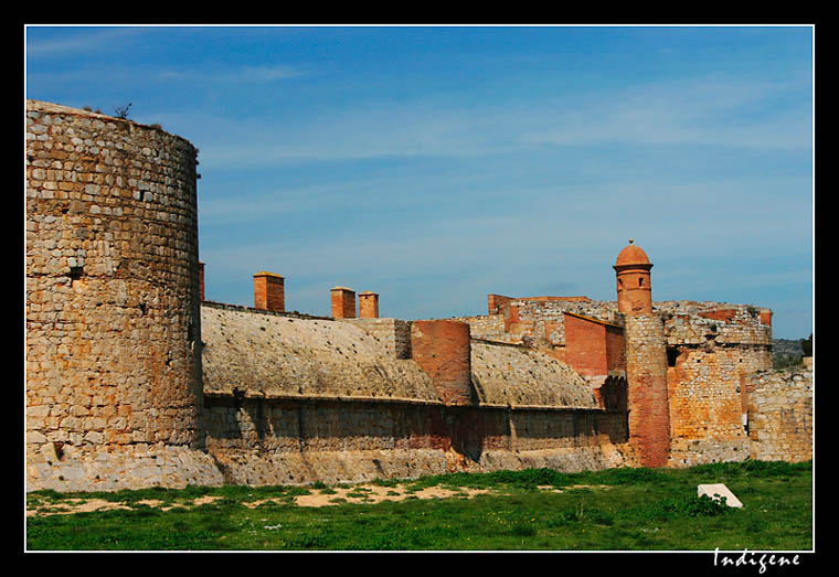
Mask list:
[[[211,481],[164,455],[202,445],[195,165],[159,128],[26,101],[28,489]]]

